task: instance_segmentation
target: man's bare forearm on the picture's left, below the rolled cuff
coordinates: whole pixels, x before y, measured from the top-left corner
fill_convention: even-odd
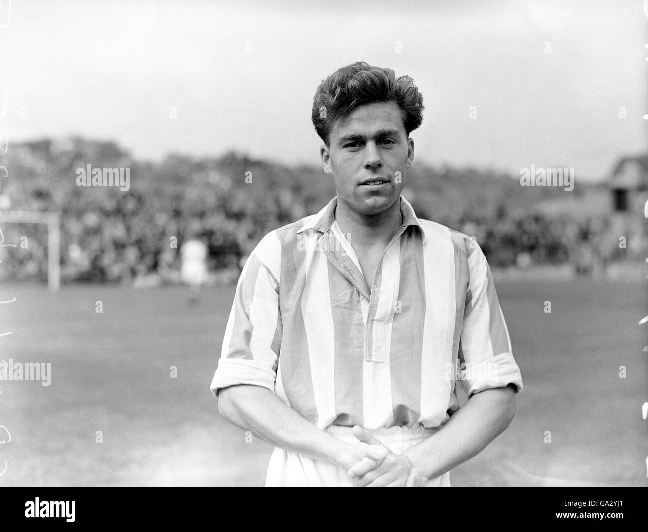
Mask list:
[[[282,449],[341,465],[341,453],[349,444],[305,420],[267,388],[232,386],[218,397],[221,414],[236,426]]]

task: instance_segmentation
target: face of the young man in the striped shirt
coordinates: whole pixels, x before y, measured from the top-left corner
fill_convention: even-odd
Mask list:
[[[414,158],[398,104],[362,105],[336,121],[320,155],[338,197],[354,212],[382,213],[400,197]],[[400,174],[399,174],[400,173]]]

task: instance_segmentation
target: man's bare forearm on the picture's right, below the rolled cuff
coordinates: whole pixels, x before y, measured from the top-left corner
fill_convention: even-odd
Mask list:
[[[515,415],[513,388],[474,394],[437,433],[406,450],[422,475],[435,478],[472,458],[500,435]]]

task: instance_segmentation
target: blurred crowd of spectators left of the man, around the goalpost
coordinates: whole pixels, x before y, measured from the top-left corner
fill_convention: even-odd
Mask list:
[[[154,188],[97,187],[71,190],[64,204],[38,192],[30,210],[61,213],[63,282],[163,284],[179,282],[180,250],[188,239],[204,241],[214,282],[240,273],[260,238],[272,228],[303,217],[305,206],[292,191],[253,187],[190,186],[181,193]],[[32,198],[34,199],[34,198]],[[47,276],[46,226],[10,224],[7,241],[29,235],[29,247],[3,261],[3,277]]]

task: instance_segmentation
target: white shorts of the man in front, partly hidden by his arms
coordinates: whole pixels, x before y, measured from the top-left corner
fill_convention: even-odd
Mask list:
[[[399,454],[437,430],[417,425],[412,428],[380,428],[369,432],[393,452]],[[327,432],[341,441],[358,442],[351,427],[330,426]],[[266,487],[354,487],[354,485],[344,468],[275,447],[270,456]],[[450,472],[428,481],[425,487],[450,487]]]

